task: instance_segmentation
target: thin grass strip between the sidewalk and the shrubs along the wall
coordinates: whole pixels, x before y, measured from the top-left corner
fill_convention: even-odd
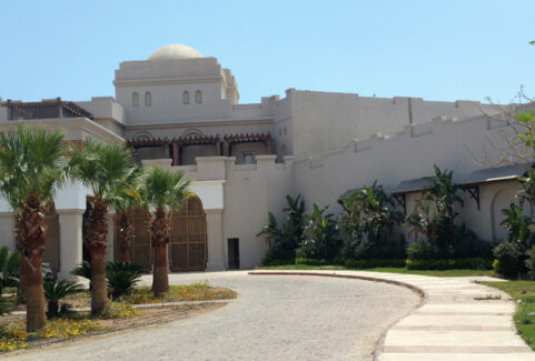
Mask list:
[[[353,270],[347,269],[341,265],[308,265],[308,264],[288,264],[288,265],[271,265],[264,267],[264,270]],[[494,271],[488,270],[407,270],[406,268],[370,268],[354,271],[370,271],[370,272],[390,272],[390,273],[406,273],[406,274],[422,274],[422,275],[434,275],[434,277],[468,277],[468,275],[494,275]]]

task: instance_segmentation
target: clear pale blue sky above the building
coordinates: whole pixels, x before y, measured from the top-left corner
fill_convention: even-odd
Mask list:
[[[119,62],[216,57],[240,103],[285,90],[509,102],[535,97],[535,1],[0,0],[0,97],[115,96]]]

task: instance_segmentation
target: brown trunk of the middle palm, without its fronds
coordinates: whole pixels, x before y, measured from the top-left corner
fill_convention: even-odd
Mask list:
[[[108,290],[106,284],[106,235],[108,223],[106,201],[95,201],[88,210],[83,242],[91,255],[91,314],[103,314],[108,311]]]

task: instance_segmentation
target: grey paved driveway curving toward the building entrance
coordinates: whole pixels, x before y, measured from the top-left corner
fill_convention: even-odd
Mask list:
[[[205,280],[236,290],[238,299],[196,318],[10,359],[371,360],[383,330],[419,303],[405,288],[360,280],[241,271],[170,277],[174,284]]]

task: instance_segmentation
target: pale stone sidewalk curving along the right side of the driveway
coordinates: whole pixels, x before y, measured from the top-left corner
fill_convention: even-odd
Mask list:
[[[266,272],[269,271],[251,273]],[[535,353],[516,333],[512,318],[515,303],[506,293],[474,283],[475,280],[496,281],[496,279],[436,278],[358,271],[271,273],[373,278],[419,289],[425,294],[422,305],[385,332],[377,345],[377,360],[535,360]],[[488,299],[498,294],[499,300]]]

